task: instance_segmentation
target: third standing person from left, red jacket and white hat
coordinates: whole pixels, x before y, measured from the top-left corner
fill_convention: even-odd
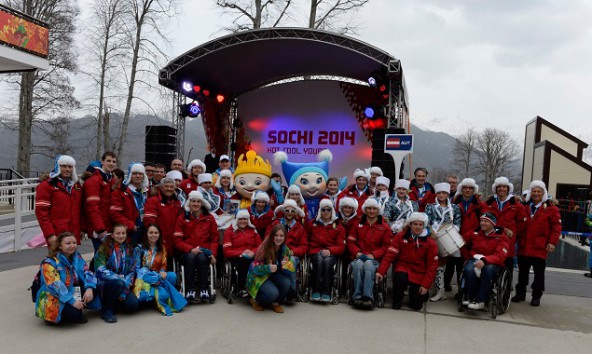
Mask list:
[[[111,221],[127,227],[127,235],[133,247],[140,243],[144,234],[142,218],[149,183],[144,165],[132,162],[121,187],[111,193]]]

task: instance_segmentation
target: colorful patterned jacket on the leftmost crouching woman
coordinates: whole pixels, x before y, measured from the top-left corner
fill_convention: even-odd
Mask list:
[[[65,304],[74,304],[74,284],[80,284],[80,294],[86,289],[95,289],[97,278],[88,269],[88,265],[76,252],[70,261],[62,253],[57,257],[48,257],[41,263],[41,287],[37,292],[35,316],[53,323],[59,323]],[[90,309],[101,308],[99,298],[95,297],[87,305]]]

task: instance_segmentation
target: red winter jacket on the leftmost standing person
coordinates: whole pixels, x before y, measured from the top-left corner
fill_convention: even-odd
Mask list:
[[[69,231],[80,244],[82,187],[75,183],[70,193],[59,178],[48,178],[37,186],[35,216],[45,240]]]

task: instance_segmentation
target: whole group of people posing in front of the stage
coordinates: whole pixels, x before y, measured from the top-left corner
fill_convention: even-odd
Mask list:
[[[299,295],[296,270],[305,259],[314,269],[315,302],[333,300],[341,259],[351,265],[356,306],[373,303],[375,281],[392,265],[395,309],[405,290],[416,310],[428,298],[445,299],[455,271],[457,279],[464,272],[467,282],[463,302],[482,309],[490,280],[501,267],[514,267],[516,249],[519,279],[512,301],[525,300],[532,267],[531,305],[540,304],[545,259],[561,232],[559,211],[541,181],[533,181],[521,200],[512,183],[499,177],[493,195],[481,200],[471,178],[458,183],[451,176],[432,185],[428,171],[418,168],[411,181],[398,179],[391,190],[381,169],[371,167],[356,170],[355,183],[344,190],[328,178],[315,215],[291,185],[283,195],[255,191],[225,223],[227,201],[237,197],[235,171],[228,156],[218,162],[210,174],[201,160],[184,171],[176,159],[169,172],[158,166],[152,176],[146,165],[131,163],[123,178],[114,173],[117,156],[106,152],[78,180],[74,159],[56,158],[37,187],[35,212],[50,254],[41,265],[36,315],[51,324],[85,322],[82,309],[95,308],[111,323],[117,311],[135,311],[142,301],[171,315],[212,296],[208,272],[210,266],[221,269],[223,261],[236,270],[238,295],[250,298],[253,309],[281,313],[281,303]],[[438,237],[455,232],[464,246],[443,252]],[[76,251],[84,235],[95,249],[92,267]],[[171,272],[173,257],[184,266],[184,296]]]

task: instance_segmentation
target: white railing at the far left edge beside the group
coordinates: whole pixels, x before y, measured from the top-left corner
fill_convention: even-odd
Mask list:
[[[0,215],[0,252],[18,252],[23,247],[23,230],[37,226],[35,215],[35,187],[38,178],[0,181],[0,205],[14,207],[14,211]],[[27,221],[28,219],[28,221]],[[11,235],[14,234],[12,247]]]

